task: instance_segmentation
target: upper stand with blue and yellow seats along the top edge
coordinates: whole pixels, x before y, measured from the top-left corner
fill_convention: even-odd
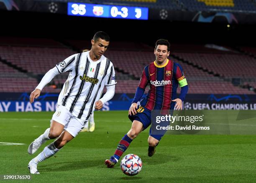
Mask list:
[[[68,0],[48,0],[68,2]],[[256,12],[255,0],[73,0],[78,3],[140,6],[165,10]]]

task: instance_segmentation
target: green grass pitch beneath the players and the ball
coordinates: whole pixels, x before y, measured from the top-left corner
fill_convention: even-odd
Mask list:
[[[156,154],[148,157],[147,129],[125,152],[140,156],[138,175],[123,174],[119,163],[106,168],[104,160],[131,127],[127,113],[95,112],[95,131],[79,133],[54,157],[39,163],[41,174],[31,175],[33,182],[256,182],[256,135],[165,135]],[[0,144],[0,175],[29,175],[28,162],[53,140],[33,155],[28,155],[28,145],[49,128],[52,114],[0,113],[0,142],[25,144]]]

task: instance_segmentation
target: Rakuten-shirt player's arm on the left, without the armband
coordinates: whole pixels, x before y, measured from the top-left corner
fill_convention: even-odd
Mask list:
[[[141,97],[143,96],[144,92],[145,92],[145,88],[148,84],[148,75],[146,74],[145,68],[141,74],[141,80],[140,83],[138,85],[138,88],[136,90],[135,96],[133,98],[131,107],[128,111],[129,115],[135,115],[136,112],[136,108],[138,107],[138,101],[141,100]]]

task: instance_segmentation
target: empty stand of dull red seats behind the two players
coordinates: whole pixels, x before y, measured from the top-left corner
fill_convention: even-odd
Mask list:
[[[31,92],[43,75],[56,63],[77,53],[54,40],[32,38],[2,40],[0,58],[5,60],[5,63],[0,62],[0,83],[5,87],[0,88],[0,92]],[[28,44],[24,42],[25,40]],[[90,48],[90,41],[64,40],[63,42],[75,50]],[[116,93],[135,93],[143,68],[155,60],[153,51],[153,47],[143,43],[111,42],[111,48],[105,56],[110,58],[115,66],[118,82]],[[189,93],[254,93],[224,80],[232,77],[255,78],[256,74],[253,72],[256,69],[255,59],[248,55],[238,54],[229,48],[223,51],[203,45],[172,45],[169,59],[182,65],[189,83]],[[243,68],[244,63],[250,67]],[[20,72],[19,69],[13,68],[13,65],[26,72]],[[219,74],[220,77],[214,74]],[[59,93],[67,77],[68,73],[57,75],[44,88],[44,92]],[[253,86],[253,83],[246,84]]]

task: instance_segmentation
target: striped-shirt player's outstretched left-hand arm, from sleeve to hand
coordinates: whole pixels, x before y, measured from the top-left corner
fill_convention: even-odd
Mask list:
[[[74,63],[76,60],[77,54],[71,55],[62,62],[58,63],[56,67],[52,68],[49,70],[44,77],[42,78],[41,82],[38,84],[36,89],[30,94],[29,100],[30,103],[33,103],[35,98],[38,98],[41,90],[50,83],[50,81],[58,74],[64,73],[68,70],[73,70],[74,69]]]

